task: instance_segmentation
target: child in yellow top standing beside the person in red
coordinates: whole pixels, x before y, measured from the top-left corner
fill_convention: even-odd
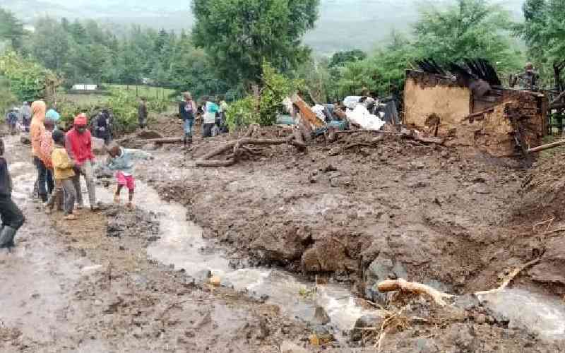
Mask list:
[[[76,201],[76,189],[73,184],[75,176],[75,162],[69,158],[65,148],[65,133],[60,130],[53,132],[55,148],[51,154],[53,172],[55,174],[55,185],[64,190],[65,220],[76,220],[73,208]],[[52,210],[57,199],[58,192],[54,192],[47,203],[48,209]],[[60,193],[59,193],[60,195]],[[50,210],[48,212],[50,212]]]

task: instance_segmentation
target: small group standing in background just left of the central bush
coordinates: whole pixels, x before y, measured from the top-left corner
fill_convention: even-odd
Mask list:
[[[201,105],[196,104],[190,92],[184,92],[184,100],[179,104],[179,117],[184,121],[184,145],[192,142],[194,121],[202,117],[202,136],[204,138],[217,136],[227,132],[226,116],[227,103],[223,97],[211,100],[204,96]]]

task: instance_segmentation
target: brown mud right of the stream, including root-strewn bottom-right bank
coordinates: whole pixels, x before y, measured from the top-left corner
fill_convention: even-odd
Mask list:
[[[260,133],[273,138],[288,132]],[[272,146],[233,167],[194,167],[194,160],[227,140],[157,151],[167,173],[145,171],[143,177],[163,198],[186,205],[205,237],[230,249],[233,265],[281,266],[319,282],[349,282],[359,297],[386,308],[387,315],[358,322],[368,329],[352,332],[353,346],[372,345],[383,321],[398,313],[387,325],[385,352],[562,349],[541,345],[527,327],[537,324],[518,317],[516,306],[500,308],[496,298],[480,302],[470,295],[498,287],[514,268],[548,254],[531,224],[525,229],[509,216],[521,204],[517,196],[528,176],[518,164],[357,133],[311,145],[304,154]],[[549,273],[539,267],[544,264],[542,258],[513,286],[524,288],[526,297],[528,290],[558,294],[530,275]],[[422,297],[391,301],[376,290],[377,282],[397,277],[460,297],[444,308]],[[521,293],[500,295],[503,303],[523,300]],[[545,300],[531,308],[545,310]]]

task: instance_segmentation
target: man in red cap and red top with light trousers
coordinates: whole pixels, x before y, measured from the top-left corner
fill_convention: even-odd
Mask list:
[[[86,180],[88,189],[88,199],[90,200],[90,209],[98,210],[96,203],[96,189],[94,181],[94,154],[92,149],[92,136],[87,128],[87,119],[85,114],[78,114],[75,117],[74,126],[66,133],[65,148],[71,160],[75,162],[75,184],[77,193],[78,207],[82,208],[83,196],[81,192],[81,174]]]

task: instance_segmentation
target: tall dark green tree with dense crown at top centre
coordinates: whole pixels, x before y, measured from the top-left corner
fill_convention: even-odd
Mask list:
[[[263,61],[285,72],[307,59],[302,35],[318,7],[319,0],[194,0],[194,42],[228,82],[258,83]]]

